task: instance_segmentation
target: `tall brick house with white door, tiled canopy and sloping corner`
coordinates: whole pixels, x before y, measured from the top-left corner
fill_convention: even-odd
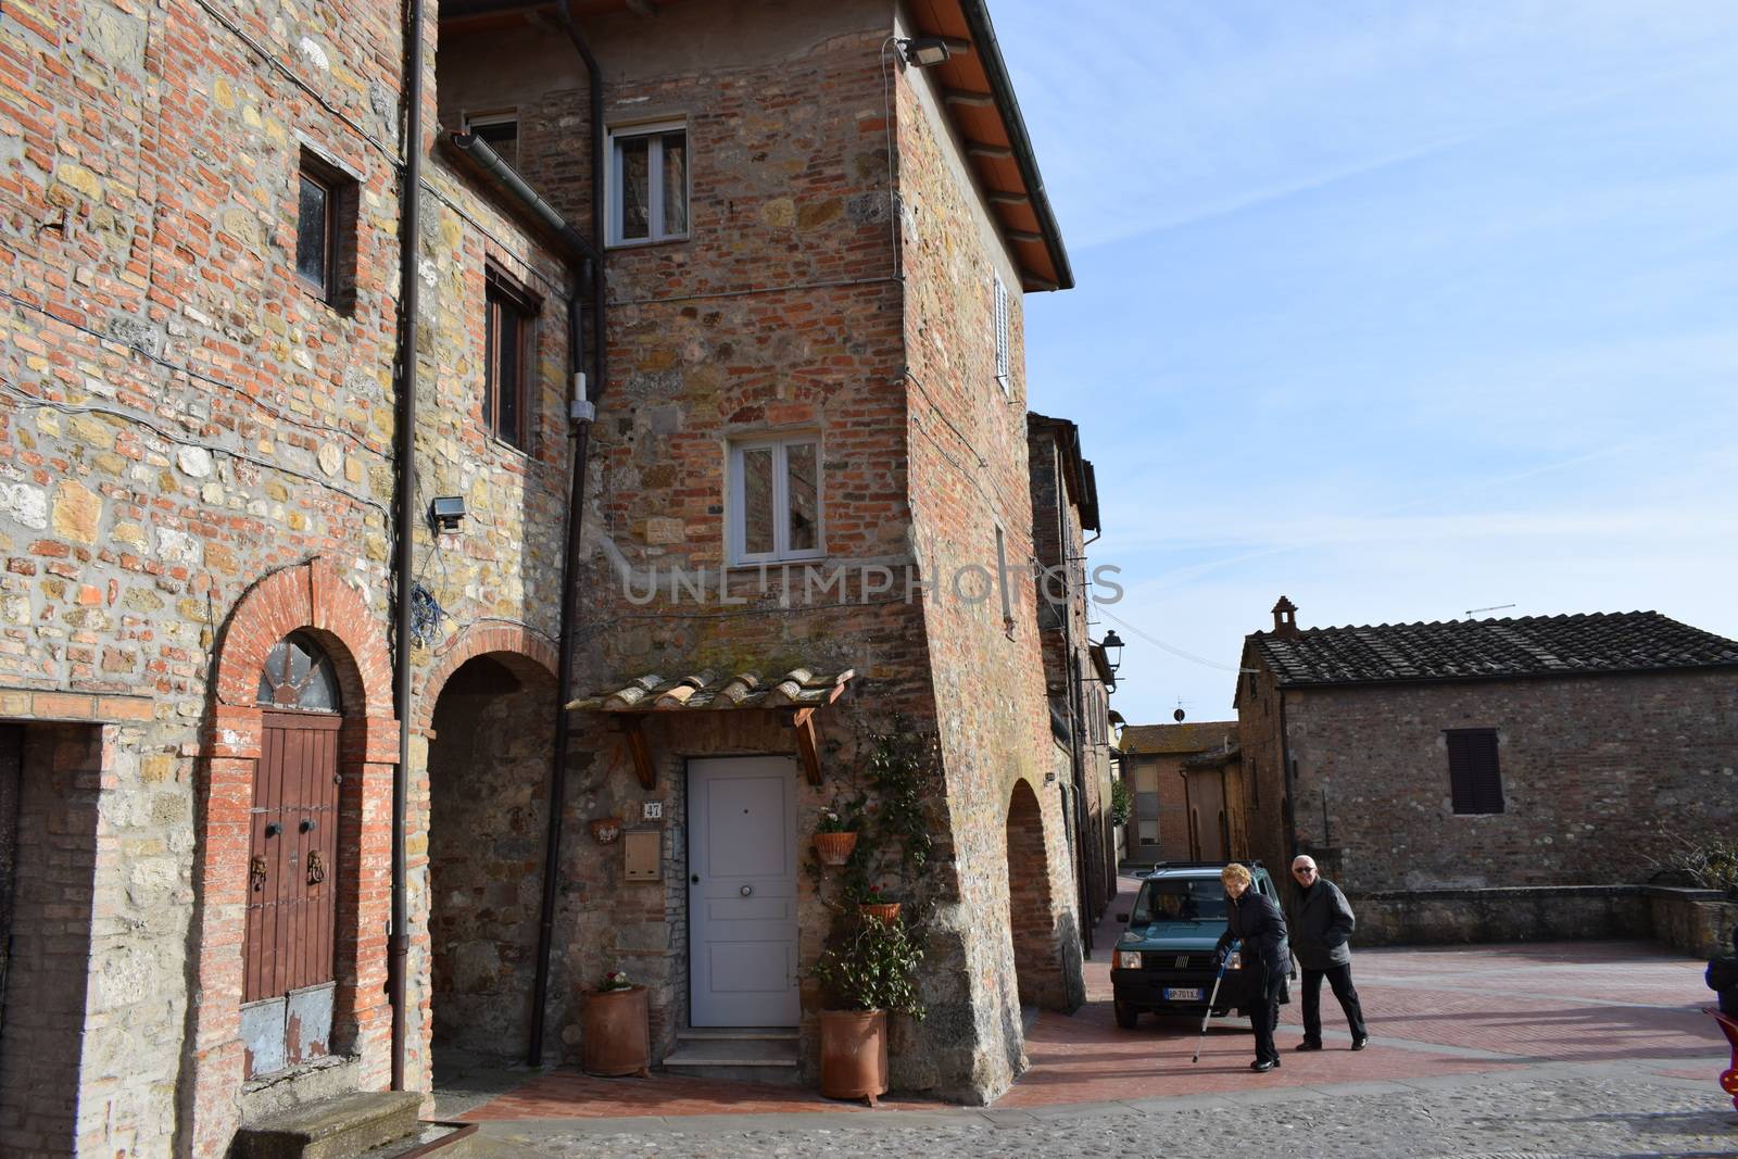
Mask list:
[[[947,841],[930,1013],[895,1027],[893,1081],[994,1096],[1020,1004],[1083,983],[1020,325],[1020,292],[1069,269],[987,17],[594,7],[596,92],[544,17],[448,2],[441,28],[443,122],[511,139],[572,221],[603,130],[610,372],[551,992],[622,968],[666,1067],[812,1072],[836,898],[808,834],[900,712],[940,738]],[[608,818],[650,871],[586,836]]]

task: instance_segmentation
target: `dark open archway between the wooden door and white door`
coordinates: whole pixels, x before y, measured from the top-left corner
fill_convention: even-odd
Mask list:
[[[441,1069],[530,1043],[554,676],[506,652],[445,679],[429,740],[431,1046]]]

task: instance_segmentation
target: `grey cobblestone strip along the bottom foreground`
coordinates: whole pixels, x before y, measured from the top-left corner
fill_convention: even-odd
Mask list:
[[[1524,1077],[1425,1077],[1328,1088],[853,1116],[702,1116],[492,1123],[480,1154],[598,1159],[739,1156],[1735,1156],[1738,1116],[1708,1083],[1557,1063]],[[1722,1110],[1724,1103],[1724,1110]]]

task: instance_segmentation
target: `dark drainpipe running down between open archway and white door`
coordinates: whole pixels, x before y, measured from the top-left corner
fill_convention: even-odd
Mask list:
[[[584,33],[574,24],[565,0],[556,5],[556,14],[568,40],[574,42],[574,49],[586,63],[586,73],[591,78],[591,240],[598,257],[591,261],[591,356],[594,375],[586,398],[575,398],[575,403],[582,401],[586,407],[575,407],[572,429],[574,478],[568,493],[567,556],[561,577],[561,659],[556,678],[554,756],[549,763],[549,827],[544,839],[544,888],[542,905],[537,914],[537,975],[532,983],[532,1034],[530,1046],[527,1048],[527,1062],[534,1067],[542,1065],[544,1018],[549,1010],[549,956],[554,949],[556,886],[561,869],[561,810],[567,801],[567,702],[574,699],[574,620],[579,619],[577,582],[586,509],[586,462],[591,450],[591,415],[596,414],[594,403],[603,394],[605,374],[608,370],[605,360],[605,295],[608,281],[603,269],[603,73],[598,68],[598,57],[591,52],[591,45],[586,43]],[[575,295],[568,313],[570,353],[580,349],[577,311],[579,301]]]

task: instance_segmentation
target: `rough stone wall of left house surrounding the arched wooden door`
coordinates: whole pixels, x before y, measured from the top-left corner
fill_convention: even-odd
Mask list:
[[[368,631],[384,638],[388,622],[396,10],[235,12],[231,28],[198,5],[68,0],[0,21],[0,139],[12,142],[0,148],[0,716],[64,716],[47,702],[59,693],[149,695],[113,742],[99,801],[122,884],[90,930],[108,949],[82,1098],[104,1109],[85,1140],[104,1154],[165,1154],[177,1131],[179,1145],[219,1150],[242,1107],[233,1034],[207,1020],[235,1001],[222,978],[240,959],[240,911],[222,850],[200,844],[231,806],[207,787],[247,784],[222,765],[233,737],[214,716],[233,610],[261,577],[323,558]],[[355,182],[341,198],[353,273],[334,302],[294,271],[304,156]],[[438,158],[426,177],[417,502],[466,495],[473,518],[438,544],[419,530],[419,575],[445,612],[415,652],[419,674],[488,617],[553,634],[567,474],[568,278]],[[487,261],[547,302],[528,454],[480,429]],[[368,851],[349,850],[353,867],[384,865],[382,820],[360,831]],[[384,895],[356,912],[374,904]],[[381,1001],[377,935],[370,924],[355,945],[372,957],[341,971],[351,1008]],[[426,970],[419,947],[412,971]],[[189,978],[207,994],[196,1018]]]

